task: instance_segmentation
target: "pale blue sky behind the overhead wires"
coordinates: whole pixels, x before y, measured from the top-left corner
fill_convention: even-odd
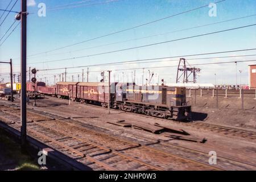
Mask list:
[[[30,0],[33,2],[32,0]],[[10,1],[1,1],[1,9],[5,9]],[[46,17],[39,17],[37,15],[38,4],[46,4]],[[69,44],[81,42],[97,36],[109,34],[111,32],[123,30],[129,27],[137,26],[138,24],[151,22],[152,20],[164,18],[169,15],[181,13],[186,10],[191,10],[199,6],[208,5],[208,0],[121,0],[109,3],[104,0],[88,1],[79,3],[76,5],[90,5],[93,3],[99,3],[98,5],[73,7],[71,9],[51,11],[53,7],[68,5],[69,3],[82,2],[82,0],[76,1],[47,1],[47,0],[35,0],[34,3],[30,3],[28,7],[29,13],[35,13],[28,15],[28,33],[27,33],[27,55],[33,55],[38,52],[49,51],[59,47],[67,46]],[[15,11],[20,9],[20,0],[15,5]],[[75,67],[80,65],[91,65],[101,63],[113,63],[118,61],[136,60],[136,59],[148,59],[154,57],[168,57],[177,55],[190,55],[196,53],[205,52],[219,52],[230,51],[236,49],[246,49],[256,47],[256,26],[242,28],[240,30],[222,32],[220,34],[202,36],[200,38],[186,39],[177,42],[160,44],[157,46],[151,46],[146,48],[131,49],[129,51],[109,53],[100,56],[85,57],[82,59],[72,59],[65,61],[58,61],[55,63],[47,63],[47,61],[67,59],[70,57],[92,55],[95,53],[114,51],[117,49],[125,49],[129,47],[142,46],[144,44],[151,44],[156,42],[164,42],[172,39],[184,38],[187,36],[193,36],[198,34],[205,34],[208,32],[220,31],[234,27],[246,26],[248,24],[256,23],[256,16],[250,18],[244,18],[240,20],[234,20],[231,22],[214,24],[212,26],[195,28],[192,30],[179,31],[171,34],[165,34],[166,32],[172,32],[181,30],[183,28],[190,28],[200,26],[203,24],[220,22],[223,20],[240,18],[247,15],[256,14],[256,1],[255,0],[226,0],[221,3],[217,3],[217,16],[210,17],[208,15],[210,8],[204,7],[199,10],[195,10],[186,14],[175,16],[148,24],[146,26],[134,28],[133,30],[121,32],[119,34],[106,36],[105,38],[93,40],[90,42],[78,44],[76,46],[60,49],[58,51],[44,53],[28,57],[27,67],[35,67],[36,69],[48,69],[48,68],[61,68],[61,67]],[[2,12],[1,12],[2,13]],[[1,14],[0,13],[0,14]],[[13,23],[14,15],[11,13],[3,25],[0,27],[0,36]],[[2,19],[0,20],[0,22]],[[104,44],[111,44],[115,42],[122,42],[124,40],[137,39],[144,36],[150,36],[155,34],[164,34],[154,36],[147,39],[133,40],[125,43],[113,44],[110,46],[90,48],[100,46]],[[90,49],[86,49],[90,48]],[[82,51],[76,51],[84,49]],[[65,53],[64,53],[65,52]],[[57,55],[53,55],[59,53]],[[209,56],[195,56],[191,58],[200,57],[215,57],[215,56],[237,56],[237,55],[253,55],[256,51],[236,52],[236,53],[224,53],[220,55]],[[19,55],[20,55],[20,31],[17,28],[13,34],[6,40],[6,42],[0,47],[0,60],[8,60],[13,58],[14,60],[14,72],[19,72]],[[189,58],[189,57],[187,57]],[[220,61],[236,61],[236,60],[254,60],[256,56],[249,57],[233,57],[225,59],[207,59],[207,60],[188,60],[190,64],[200,63],[214,63]],[[159,63],[144,63],[144,64],[130,64],[130,65],[112,65],[101,67],[90,67],[91,73],[90,81],[100,81],[100,73],[93,71],[101,70],[115,70],[126,68],[144,68],[144,67],[158,67],[158,66],[170,66],[177,65],[177,61],[166,61]],[[46,62],[35,64],[36,62]],[[238,63],[238,70],[242,70],[242,83],[247,84],[248,72],[247,65],[256,64],[254,62]],[[220,65],[200,65],[201,73],[198,78],[198,82],[202,83],[214,83],[214,73],[217,74],[218,84],[234,84],[236,82],[235,65],[234,64],[220,64]],[[77,80],[77,75],[80,74],[82,69],[68,69],[68,80],[70,81],[72,75]],[[8,80],[8,76],[2,75],[9,71],[7,65],[0,65],[0,78],[5,77]],[[164,78],[167,82],[175,82],[176,68],[161,68],[150,69],[157,77],[154,81],[157,82],[157,78]],[[53,75],[59,75],[64,70],[55,70],[47,72],[39,72],[38,78],[47,77],[48,82],[53,82]],[[123,74],[122,74],[123,72]],[[123,75],[125,75],[125,81],[131,81],[132,76],[129,71],[113,71],[112,80],[122,81]],[[147,72],[147,74],[146,74]],[[137,79],[141,82],[142,70],[136,69]],[[148,76],[148,69],[145,69],[145,77]],[[238,74],[238,84],[240,84],[240,73]],[[81,79],[80,79],[81,81]]]

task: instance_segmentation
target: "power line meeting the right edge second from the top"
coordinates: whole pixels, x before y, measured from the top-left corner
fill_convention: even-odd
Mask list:
[[[236,28],[230,28],[230,29],[221,30],[221,31],[216,31],[216,32],[210,32],[210,33],[207,33],[207,34],[200,34],[200,35],[195,35],[195,36],[188,36],[188,37],[185,37],[185,38],[174,39],[174,40],[168,40],[168,41],[164,41],[164,42],[158,42],[158,43],[153,43],[153,44],[146,44],[146,45],[143,45],[143,46],[130,47],[130,48],[125,48],[125,49],[118,49],[118,50],[115,50],[115,51],[96,53],[96,54],[93,54],[93,55],[78,56],[78,57],[70,57],[70,58],[66,58],[66,59],[59,59],[59,60],[52,60],[52,61],[41,61],[41,62],[35,62],[35,63],[32,63],[32,64],[52,63],[52,62],[66,61],[66,60],[72,60],[72,59],[80,59],[80,58],[84,58],[84,57],[92,57],[92,56],[98,56],[98,55],[105,55],[105,54],[108,54],[108,53],[122,52],[122,51],[131,50],[131,49],[137,49],[137,48],[143,48],[143,47],[156,46],[156,45],[159,45],[159,44],[166,44],[166,43],[176,42],[176,41],[179,41],[179,40],[192,39],[192,38],[197,38],[197,37],[205,36],[205,35],[218,34],[218,33],[221,33],[221,32],[232,31],[232,30],[237,30],[237,29],[240,29],[240,28],[246,28],[246,27],[252,27],[252,26],[256,26],[256,24],[250,24],[250,25],[247,25],[247,26],[236,27]]]

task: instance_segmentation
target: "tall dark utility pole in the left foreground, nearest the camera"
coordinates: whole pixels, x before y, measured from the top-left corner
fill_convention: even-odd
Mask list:
[[[21,0],[21,129],[20,138],[22,146],[26,145],[27,139],[27,96],[26,96],[26,76],[27,76],[27,0]]]

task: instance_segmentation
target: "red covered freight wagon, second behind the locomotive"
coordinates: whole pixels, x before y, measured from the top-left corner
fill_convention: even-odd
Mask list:
[[[58,97],[69,96],[69,91],[71,91],[71,98],[77,98],[77,84],[79,82],[57,82],[56,94]]]

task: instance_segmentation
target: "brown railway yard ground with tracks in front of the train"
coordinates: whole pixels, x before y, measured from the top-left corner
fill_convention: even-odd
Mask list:
[[[177,122],[46,96],[27,106],[27,133],[72,169],[256,170],[254,107],[197,102],[192,121]],[[19,113],[19,99],[0,101],[6,130],[20,130]]]

